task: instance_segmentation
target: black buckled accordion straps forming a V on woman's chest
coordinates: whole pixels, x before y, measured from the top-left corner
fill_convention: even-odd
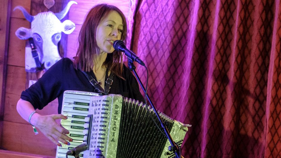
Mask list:
[[[83,72],[83,74],[87,77],[87,79],[90,81],[90,83],[94,86],[95,90],[98,91],[98,93],[100,93],[101,95],[108,95],[108,92],[109,92],[109,89],[110,89],[110,86],[113,82],[113,73],[110,73],[110,75],[108,76],[108,69],[106,69],[106,72],[105,72],[105,86],[104,86],[104,90],[103,88],[101,87],[101,85],[99,85],[99,83],[96,81],[96,77],[95,75],[91,75],[91,72],[85,72],[85,71],[82,71],[80,68],[78,68],[81,72]],[[95,79],[94,79],[95,78]]]

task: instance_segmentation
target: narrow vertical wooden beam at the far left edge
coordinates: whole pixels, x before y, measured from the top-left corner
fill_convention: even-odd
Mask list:
[[[3,111],[5,100],[5,81],[7,72],[7,54],[9,41],[9,24],[10,24],[10,8],[11,1],[1,1],[0,5],[0,129],[3,129]],[[2,138],[2,130],[0,130],[0,143]]]

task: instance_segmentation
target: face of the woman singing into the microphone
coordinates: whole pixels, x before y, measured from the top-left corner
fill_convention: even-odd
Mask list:
[[[116,11],[111,11],[96,29],[96,42],[101,52],[112,53],[113,42],[121,39],[123,23]]]

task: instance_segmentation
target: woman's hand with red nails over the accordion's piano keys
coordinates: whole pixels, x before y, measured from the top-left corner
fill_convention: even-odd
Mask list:
[[[56,122],[57,119],[66,120],[67,117],[63,116],[62,114],[41,116],[38,113],[34,113],[30,122],[56,145],[61,146],[58,141],[66,145],[70,145],[68,141],[72,141],[72,139],[66,135],[69,134],[69,131],[60,126]]]

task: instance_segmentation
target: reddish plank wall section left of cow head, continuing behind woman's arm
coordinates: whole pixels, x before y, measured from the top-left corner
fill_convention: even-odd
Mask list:
[[[36,1],[35,1],[36,2]],[[33,2],[34,3],[34,2]],[[15,6],[23,6],[29,13],[31,12],[31,0],[11,0],[10,28],[8,29],[8,61],[6,90],[4,93],[3,107],[3,127],[1,128],[1,148],[15,152],[25,152],[30,154],[56,155],[56,145],[47,139],[42,133],[34,135],[33,128],[29,123],[19,116],[16,110],[17,101],[20,94],[25,89],[25,40],[20,40],[15,35],[19,27],[30,28],[28,22],[20,10],[15,10]],[[32,15],[36,15],[32,14]],[[57,113],[58,101],[54,100],[38,113],[49,115]]]

